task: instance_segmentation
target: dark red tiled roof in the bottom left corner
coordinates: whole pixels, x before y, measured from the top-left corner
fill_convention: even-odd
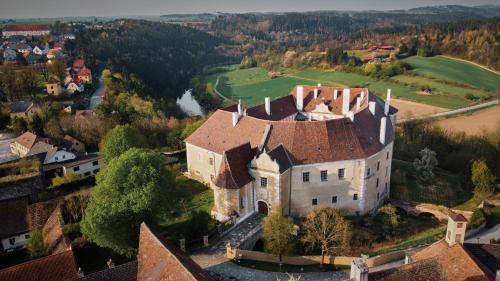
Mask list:
[[[0,270],[0,280],[9,281],[71,281],[77,277],[72,249]]]

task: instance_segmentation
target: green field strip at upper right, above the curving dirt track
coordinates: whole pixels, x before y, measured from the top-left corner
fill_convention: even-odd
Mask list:
[[[500,85],[500,75],[487,71],[473,64],[448,59],[442,56],[419,57],[405,59],[414,72],[440,80],[449,80],[472,85],[479,89],[497,91]]]

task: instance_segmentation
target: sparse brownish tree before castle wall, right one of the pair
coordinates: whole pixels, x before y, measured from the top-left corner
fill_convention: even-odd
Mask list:
[[[310,211],[303,228],[302,242],[311,250],[321,251],[321,268],[326,255],[341,254],[349,249],[351,225],[338,209],[324,207]]]

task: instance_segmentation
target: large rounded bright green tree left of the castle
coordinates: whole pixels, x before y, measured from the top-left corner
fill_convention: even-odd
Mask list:
[[[85,209],[82,233],[99,246],[132,257],[137,253],[139,226],[156,225],[169,216],[175,181],[155,152],[132,148],[101,169]]]

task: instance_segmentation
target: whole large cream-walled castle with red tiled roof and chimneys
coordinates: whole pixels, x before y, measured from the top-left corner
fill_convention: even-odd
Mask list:
[[[188,175],[214,190],[219,220],[366,214],[389,196],[397,110],[366,88],[297,86],[251,108],[217,110],[186,139]]]

